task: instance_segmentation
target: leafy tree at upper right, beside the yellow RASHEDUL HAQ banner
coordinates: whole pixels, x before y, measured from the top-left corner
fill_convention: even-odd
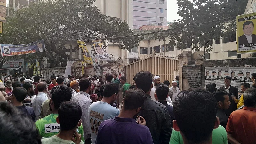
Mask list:
[[[177,0],[178,14],[182,19],[178,19],[172,24],[172,28],[205,23],[214,20],[221,20],[233,17],[225,21],[216,21],[209,24],[194,25],[189,28],[172,30],[167,34],[158,34],[156,37],[163,39],[170,38],[170,44],[176,45],[175,40],[180,42],[177,47],[187,48],[187,43],[194,43],[195,51],[205,46],[206,52],[212,50],[212,39],[220,36],[231,37],[236,30],[236,18],[234,16],[244,14],[247,2],[244,0]]]

